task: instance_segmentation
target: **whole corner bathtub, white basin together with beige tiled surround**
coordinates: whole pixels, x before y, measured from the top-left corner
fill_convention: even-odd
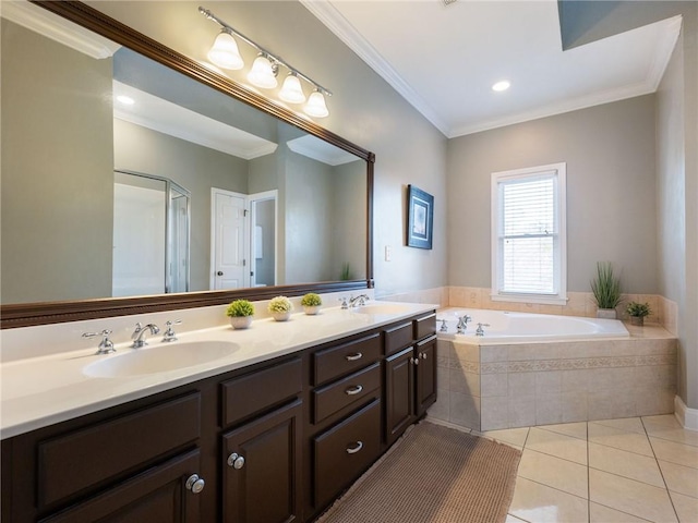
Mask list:
[[[436,318],[436,421],[485,431],[674,412],[673,337],[574,316],[453,307]]]

